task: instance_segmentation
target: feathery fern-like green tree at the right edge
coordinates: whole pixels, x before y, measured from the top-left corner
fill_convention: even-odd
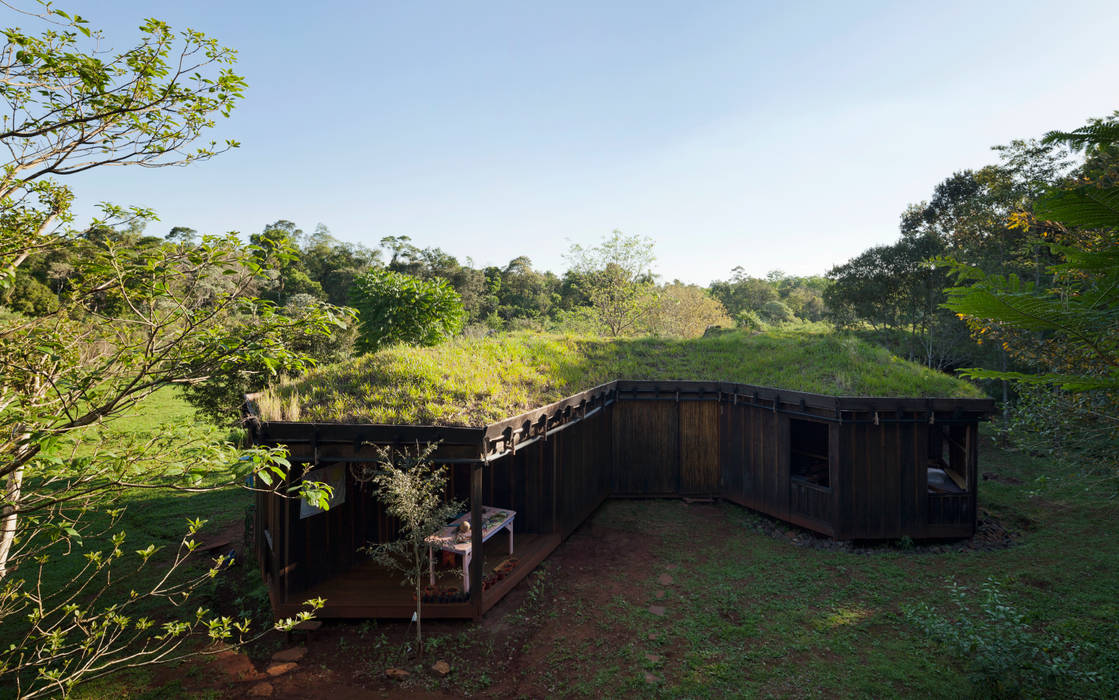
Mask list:
[[[1035,227],[1062,262],[1051,286],[1016,275],[986,274],[949,261],[959,286],[946,303],[978,342],[997,342],[1035,371],[969,368],[972,378],[1018,385],[1012,433],[1028,447],[1068,450],[1115,475],[1119,454],[1119,123],[1100,121],[1073,132],[1051,132],[1051,143],[1087,152],[1080,177],[1041,197],[1034,216],[1013,225]]]

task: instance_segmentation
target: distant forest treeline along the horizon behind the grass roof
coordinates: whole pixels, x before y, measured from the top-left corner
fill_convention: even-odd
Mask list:
[[[461,313],[449,334],[547,330],[695,337],[713,325],[761,330],[822,321],[933,369],[1025,369],[1027,360],[998,343],[984,343],[981,333],[944,306],[956,282],[942,261],[1015,275],[1057,293],[1052,267],[1063,257],[1054,246],[1082,242],[1078,237],[1084,234],[1031,226],[1034,202],[1053,188],[1113,177],[1115,155],[1098,149],[1079,158],[1060,143],[1038,140],[1016,140],[994,151],[997,163],[956,172],[928,200],[910,205],[893,244],[872,247],[822,275],[773,271],[755,277],[736,266],[707,286],[658,281],[653,242],[621,231],[596,247],[574,246],[562,274],[538,269],[524,255],[505,265],[478,266],[439,247],[422,247],[406,235],[385,236],[368,247],[339,239],[322,224],[305,233],[279,219],[248,236],[266,268],[264,281],[250,292],[297,314],[311,302],[360,305],[355,284],[380,269],[453,291]],[[73,286],[73,258],[85,247],[110,242],[189,247],[200,239],[198,231],[181,226],[163,236],[151,234],[143,219],[133,219],[94,226],[72,235],[67,245],[44,246],[16,271],[2,305],[23,315],[53,313]],[[378,328],[382,340],[394,338],[387,325]],[[320,361],[337,360],[354,352],[357,338],[356,332],[338,333],[308,349]],[[379,343],[356,344],[368,350]],[[987,388],[997,398],[1013,398],[1005,382]]]

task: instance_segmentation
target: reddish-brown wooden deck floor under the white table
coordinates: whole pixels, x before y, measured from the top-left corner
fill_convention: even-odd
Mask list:
[[[514,554],[517,566],[501,580],[482,592],[482,612],[497,605],[513,588],[536,566],[560,546],[558,535],[518,533],[514,538]],[[498,536],[486,542],[486,559],[483,577],[493,567],[509,558],[509,540]],[[440,564],[436,552],[435,585],[442,589],[455,587],[462,589],[462,565],[457,560],[454,566]],[[426,569],[425,569],[426,585]],[[349,571],[339,574],[329,580],[312,586],[299,594],[300,599],[322,597],[326,605],[316,617],[382,617],[408,618],[415,612],[412,600],[412,589],[401,581],[399,571],[388,570],[375,565],[372,560],[356,564]],[[302,609],[299,603],[272,602],[278,618],[290,617]],[[471,618],[473,609],[470,600],[462,603],[424,603],[424,618]]]

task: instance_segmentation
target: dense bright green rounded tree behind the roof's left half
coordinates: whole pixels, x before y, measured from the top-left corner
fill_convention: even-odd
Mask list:
[[[358,349],[376,352],[394,343],[434,346],[451,338],[466,320],[462,300],[443,280],[417,280],[389,269],[370,269],[354,281]]]

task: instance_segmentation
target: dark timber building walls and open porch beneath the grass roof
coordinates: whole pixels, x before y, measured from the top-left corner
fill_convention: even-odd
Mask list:
[[[261,422],[308,479],[335,485],[327,511],[258,492],[255,546],[278,616],[322,596],[323,617],[408,617],[411,593],[358,548],[392,539],[363,475],[378,445],[439,443],[449,495],[516,511],[516,566],[474,528],[469,596],[425,616],[480,617],[605,499],[713,496],[837,539],[975,532],[978,424],[989,399],[835,397],[726,382],[619,380],[485,427]],[[302,470],[293,470],[302,473]],[[291,485],[291,484],[289,484]],[[498,538],[500,539],[500,538]],[[508,562],[507,562],[508,564]]]

